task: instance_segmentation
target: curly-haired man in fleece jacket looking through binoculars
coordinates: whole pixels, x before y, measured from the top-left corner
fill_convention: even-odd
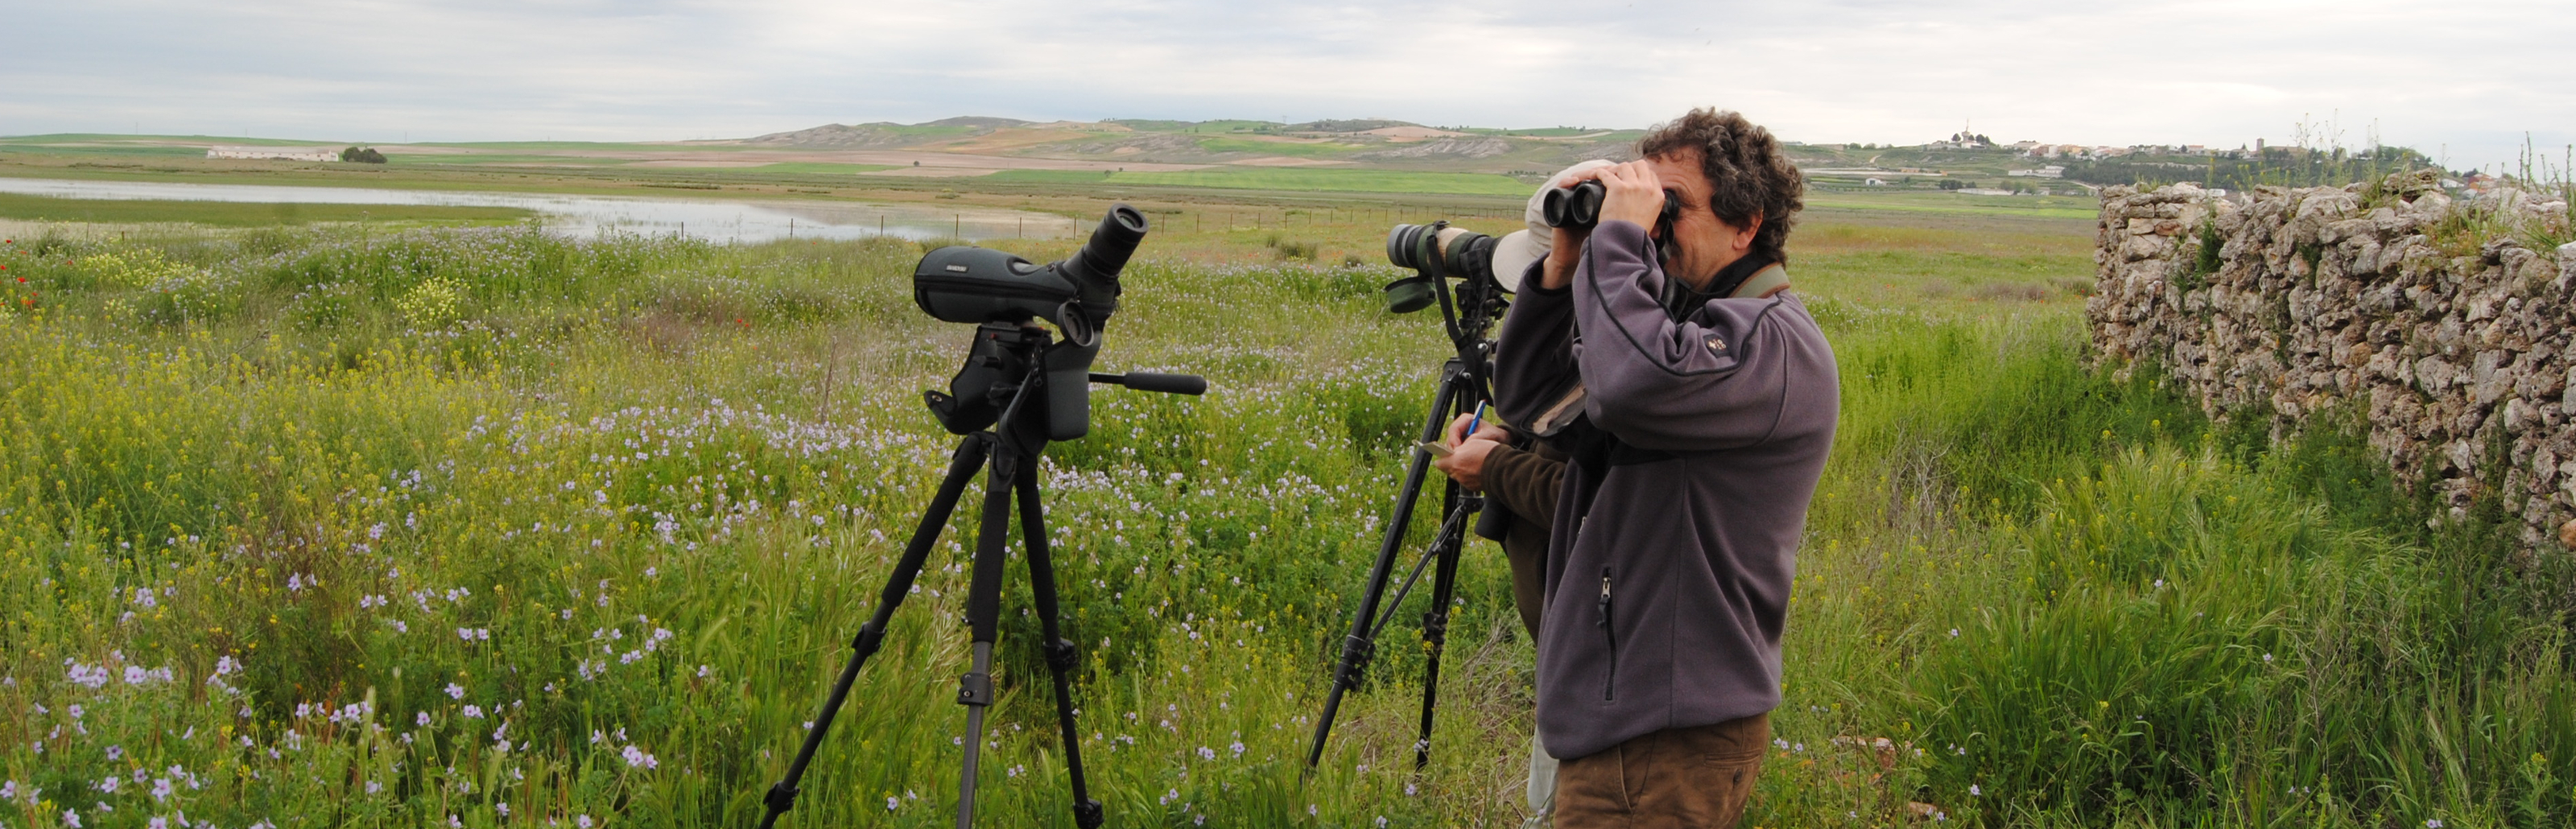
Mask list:
[[[1515,597],[1540,602],[1522,618],[1538,626],[1538,736],[1564,757],[1556,824],[1734,826],[1780,703],[1839,389],[1824,332],[1788,293],[1803,178],[1777,139],[1690,111],[1638,154],[1553,180],[1569,191],[1548,203],[1546,245],[1497,245],[1497,273],[1543,247],[1494,355],[1512,427],[1455,422],[1440,471],[1528,517],[1515,533],[1546,533],[1543,561],[1512,569],[1540,582]],[[1584,198],[1597,216],[1564,209]],[[1515,451],[1525,438],[1564,466]],[[1504,548],[1535,556],[1528,538]]]

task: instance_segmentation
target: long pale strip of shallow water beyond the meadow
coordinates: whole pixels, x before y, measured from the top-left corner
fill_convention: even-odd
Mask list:
[[[425,203],[425,206],[502,206],[544,216],[559,234],[685,234],[711,242],[773,239],[1059,239],[1082,227],[1054,214],[1007,209],[940,209],[868,201],[734,201],[665,196],[562,196],[562,193],[459,193],[459,191],[381,191],[381,188],[286,188],[286,185],[201,185],[149,180],[52,180],[0,178],[0,193],[57,198],[170,198],[170,201],[250,201],[250,203]]]

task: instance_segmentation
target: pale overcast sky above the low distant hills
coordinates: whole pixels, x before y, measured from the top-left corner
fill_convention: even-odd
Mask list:
[[[827,121],[1404,118],[1798,142],[2576,142],[2568,3],[0,0],[0,134],[708,139]]]

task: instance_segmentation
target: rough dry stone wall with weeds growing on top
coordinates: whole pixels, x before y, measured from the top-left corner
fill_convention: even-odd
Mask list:
[[[2349,407],[2403,487],[2530,546],[2576,548],[2576,242],[2555,196],[2452,198],[2432,172],[2349,188],[2105,188],[2097,358],[2164,371],[2272,433]],[[2532,250],[2543,247],[2543,250]]]

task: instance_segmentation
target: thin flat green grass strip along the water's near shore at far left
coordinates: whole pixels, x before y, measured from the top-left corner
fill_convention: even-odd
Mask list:
[[[155,201],[155,198],[52,198],[0,193],[0,219],[26,221],[191,221],[211,227],[265,227],[307,221],[523,221],[526,209],[430,206],[430,203],[250,203],[250,201]]]

